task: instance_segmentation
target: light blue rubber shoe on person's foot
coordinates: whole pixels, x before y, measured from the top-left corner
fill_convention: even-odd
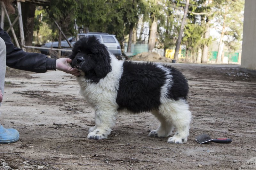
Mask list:
[[[17,142],[19,138],[20,134],[16,129],[5,129],[0,124],[0,144]]]

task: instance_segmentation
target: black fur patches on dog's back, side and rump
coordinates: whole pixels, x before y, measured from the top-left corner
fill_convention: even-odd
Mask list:
[[[188,83],[183,74],[171,66],[171,83],[168,99],[187,99]],[[166,72],[155,63],[123,63],[123,74],[119,81],[116,102],[119,109],[128,109],[133,113],[157,109],[160,105],[161,87],[166,84]]]

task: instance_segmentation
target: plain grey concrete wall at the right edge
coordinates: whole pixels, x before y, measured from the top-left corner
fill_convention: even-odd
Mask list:
[[[256,72],[256,0],[245,0],[241,70]]]

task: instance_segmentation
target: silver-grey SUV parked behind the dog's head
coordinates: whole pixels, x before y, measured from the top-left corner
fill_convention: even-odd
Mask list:
[[[121,46],[120,46],[119,42],[117,41],[115,35],[110,35],[108,33],[93,33],[93,32],[91,32],[91,33],[79,33],[78,38],[80,39],[80,38],[86,37],[88,35],[96,36],[100,40],[100,42],[108,48],[108,51],[113,53],[117,57],[120,57],[122,55]],[[76,42],[76,37],[69,37],[68,41],[70,42],[71,46],[73,47],[73,45]],[[58,44],[59,44],[58,41],[48,42],[48,43],[45,43],[41,47],[58,48]],[[61,41],[61,47],[63,49],[71,49],[66,40]],[[56,56],[54,56],[54,54],[53,55],[49,54],[49,50],[47,50],[47,49],[40,49],[40,51],[42,54],[51,55],[51,57],[53,57],[53,58],[56,57]],[[69,55],[70,53],[71,52],[63,52],[62,51],[61,55]],[[57,55],[57,53],[56,53],[56,55]]]

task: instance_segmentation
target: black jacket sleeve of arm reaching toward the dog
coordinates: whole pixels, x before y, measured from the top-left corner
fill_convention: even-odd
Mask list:
[[[10,36],[0,27],[0,37],[6,45],[6,65],[14,69],[44,73],[56,70],[56,59],[48,58],[39,53],[28,53],[14,47]]]

